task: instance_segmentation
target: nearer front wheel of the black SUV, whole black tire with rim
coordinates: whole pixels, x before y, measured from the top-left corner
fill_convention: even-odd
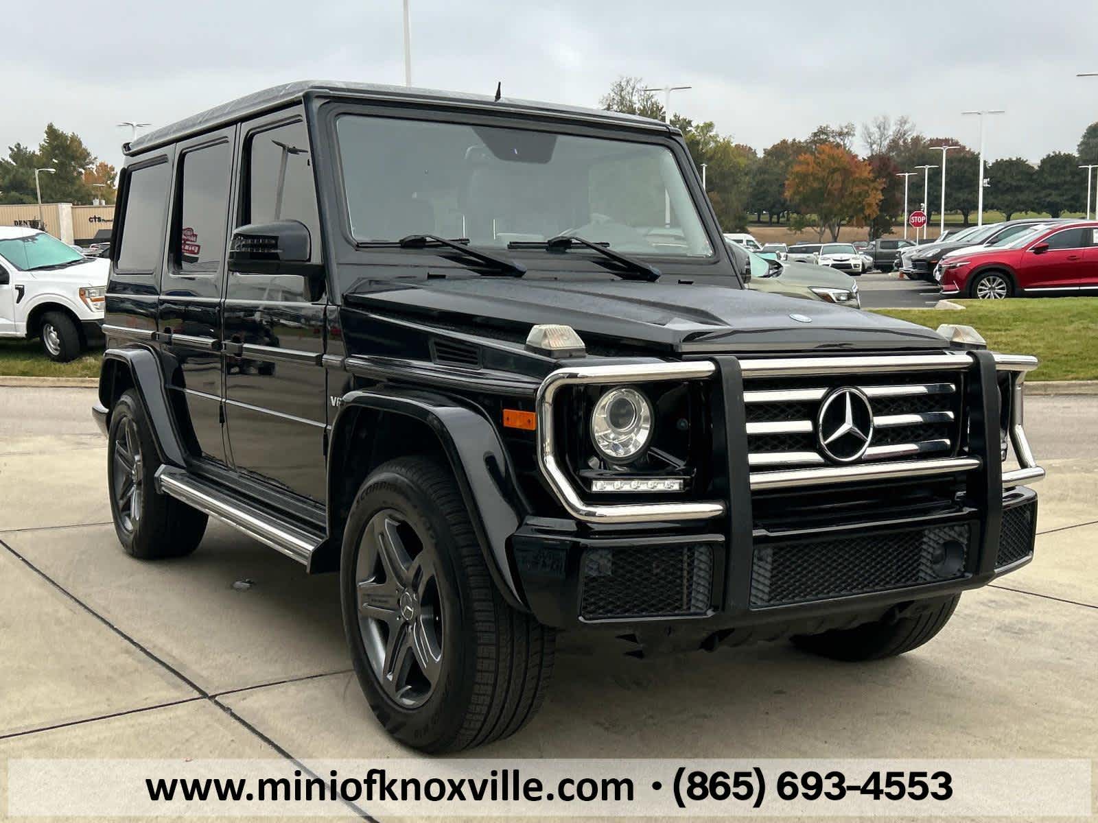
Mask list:
[[[391,525],[397,556],[408,561],[400,574],[382,556],[395,551],[386,548]],[[424,570],[434,576],[433,594],[419,588]],[[514,734],[540,708],[556,632],[503,600],[457,483],[435,462],[393,460],[362,484],[344,531],[340,591],[359,684],[401,743],[424,752],[479,746]],[[405,612],[410,591],[413,611]],[[405,630],[408,640],[394,642]],[[406,661],[392,677],[390,650],[392,659]]]

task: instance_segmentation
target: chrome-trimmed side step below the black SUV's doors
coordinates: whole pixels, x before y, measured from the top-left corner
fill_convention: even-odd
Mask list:
[[[156,482],[164,494],[204,511],[299,563],[309,565],[310,556],[324,541],[323,534],[273,517],[255,504],[228,494],[182,469],[161,466],[156,473]]]

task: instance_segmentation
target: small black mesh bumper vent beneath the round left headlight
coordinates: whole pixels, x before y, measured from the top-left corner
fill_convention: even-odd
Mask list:
[[[704,615],[713,597],[713,549],[707,543],[589,549],[580,585],[584,620]]]

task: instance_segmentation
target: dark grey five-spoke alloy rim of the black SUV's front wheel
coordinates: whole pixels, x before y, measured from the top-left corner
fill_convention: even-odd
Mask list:
[[[444,610],[433,552],[394,509],[366,525],[355,572],[359,630],[381,688],[400,706],[423,706],[442,667]]]

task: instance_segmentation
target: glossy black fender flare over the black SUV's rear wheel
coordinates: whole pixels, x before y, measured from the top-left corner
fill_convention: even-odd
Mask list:
[[[160,359],[152,349],[134,346],[125,349],[108,349],[103,352],[103,363],[99,373],[99,402],[110,413],[114,404],[114,371],[126,369],[137,391],[149,426],[160,462],[179,469],[187,467],[183,439],[180,437],[176,417],[171,412],[168,388],[164,381]]]

